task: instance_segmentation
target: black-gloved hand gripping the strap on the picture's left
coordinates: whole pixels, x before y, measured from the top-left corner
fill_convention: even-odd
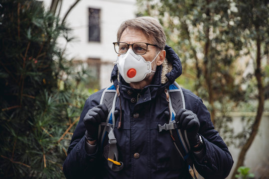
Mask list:
[[[83,122],[86,127],[85,136],[88,140],[93,141],[98,136],[98,125],[105,122],[108,117],[108,108],[106,104],[99,104],[90,109],[85,115]]]

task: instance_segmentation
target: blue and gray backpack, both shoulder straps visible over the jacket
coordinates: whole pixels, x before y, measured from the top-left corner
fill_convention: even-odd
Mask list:
[[[165,89],[166,100],[169,106],[169,121],[164,125],[158,125],[159,132],[162,130],[169,130],[171,139],[173,144],[182,157],[183,161],[187,163],[189,168],[193,166],[193,163],[190,159],[190,144],[187,138],[186,130],[181,131],[177,127],[177,123],[175,122],[176,112],[180,108],[185,108],[185,100],[182,89],[179,85],[174,82],[172,85],[169,86],[169,89]],[[108,107],[109,115],[107,117],[106,122],[102,122],[99,125],[98,130],[98,140],[101,146],[101,149],[104,148],[104,145],[108,143],[106,147],[109,149],[108,154],[108,166],[112,171],[121,171],[123,169],[124,164],[122,162],[118,162],[118,149],[117,149],[117,140],[114,135],[114,128],[115,128],[115,104],[116,98],[120,95],[119,86],[115,88],[114,85],[106,88],[103,91],[100,104],[105,103]],[[121,121],[121,119],[120,119]],[[120,125],[120,124],[119,124]],[[194,178],[197,177],[194,174]]]

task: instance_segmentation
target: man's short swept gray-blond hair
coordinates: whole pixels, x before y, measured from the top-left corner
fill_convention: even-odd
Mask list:
[[[161,24],[153,17],[143,16],[124,21],[118,30],[118,42],[127,27],[142,30],[148,40],[152,40],[152,43],[156,44],[160,49],[164,49],[166,36]]]

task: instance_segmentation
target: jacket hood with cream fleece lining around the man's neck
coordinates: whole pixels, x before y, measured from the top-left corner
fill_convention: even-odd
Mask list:
[[[167,82],[167,85],[170,85],[174,83],[175,79],[182,74],[182,66],[177,54],[168,45],[165,46],[164,50],[166,51],[166,58],[161,66],[157,66],[155,82],[153,82],[154,85],[163,86]],[[113,81],[115,86],[120,84],[119,81],[124,81],[121,77],[118,76],[117,65],[114,66],[114,69],[111,73],[111,81]]]

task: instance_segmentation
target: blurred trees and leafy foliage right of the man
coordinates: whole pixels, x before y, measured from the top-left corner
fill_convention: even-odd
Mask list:
[[[138,16],[156,17],[163,25],[167,44],[182,61],[176,81],[204,100],[225,142],[241,148],[240,167],[263,111],[269,111],[269,0],[137,0],[137,5]],[[244,130],[235,136],[230,112],[255,115],[242,113]]]

